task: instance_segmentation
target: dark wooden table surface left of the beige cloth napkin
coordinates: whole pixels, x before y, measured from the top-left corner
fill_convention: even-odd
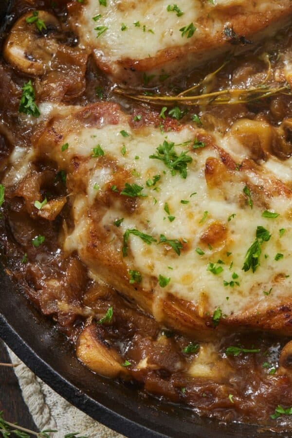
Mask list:
[[[4,343],[1,340],[0,363],[11,363]],[[17,422],[23,427],[37,431],[37,426],[22,399],[14,370],[8,366],[0,366],[0,411],[3,411],[4,420]]]

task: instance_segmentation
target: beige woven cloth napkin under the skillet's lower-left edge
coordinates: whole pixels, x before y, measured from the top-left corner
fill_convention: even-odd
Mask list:
[[[7,347],[13,363],[21,362]],[[24,402],[39,430],[56,429],[54,438],[63,438],[71,432],[80,432],[88,438],[123,438],[103,424],[79,411],[53,389],[43,383],[22,362],[14,368]]]

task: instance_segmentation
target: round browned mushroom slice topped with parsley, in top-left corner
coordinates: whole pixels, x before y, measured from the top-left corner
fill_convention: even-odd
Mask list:
[[[19,71],[40,76],[50,68],[58,49],[55,37],[61,28],[54,15],[38,11],[37,18],[46,26],[39,31],[36,23],[26,21],[32,14],[32,11],[28,12],[14,24],[4,45],[3,55]]]

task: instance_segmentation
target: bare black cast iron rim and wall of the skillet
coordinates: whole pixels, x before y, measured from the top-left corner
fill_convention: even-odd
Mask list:
[[[8,3],[9,0],[0,0],[0,28]],[[275,437],[253,425],[226,425],[199,418],[191,410],[147,397],[137,386],[92,373],[76,359],[73,348],[53,321],[28,302],[1,264],[0,337],[62,397],[129,438]]]

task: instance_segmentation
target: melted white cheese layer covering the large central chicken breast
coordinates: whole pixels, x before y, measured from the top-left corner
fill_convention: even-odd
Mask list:
[[[123,130],[129,135],[124,137],[121,134]],[[104,229],[111,230],[109,247],[114,248],[128,270],[141,273],[143,288],[153,291],[153,314],[159,319],[155,297],[171,292],[191,302],[201,316],[208,312],[211,314],[220,307],[226,319],[244,321],[244,317],[251,312],[264,312],[278,306],[283,300],[287,302],[291,293],[292,197],[288,187],[292,184],[292,158],[285,163],[273,158],[260,169],[247,167],[244,170],[230,170],[228,178],[221,172],[222,179],[212,187],[205,178],[206,162],[213,157],[221,163],[220,150],[223,149],[208,146],[193,149],[192,145],[200,132],[190,125],[179,132],[166,133],[153,127],[134,130],[128,125],[128,116],[121,114],[117,125],[73,129],[60,143],[52,143],[51,158],[59,163],[60,168],[70,168],[70,163],[76,157],[80,162],[86,162],[85,167],[75,170],[73,177],[78,176],[85,183],[86,196],[80,193],[76,183],[73,189],[75,229],[67,237],[65,249],[76,250],[88,263],[87,249],[91,245],[89,218],[98,211],[95,202],[109,190],[109,184],[115,176],[113,167],[109,164],[103,166],[100,158],[91,157],[92,149],[99,144],[104,157],[128,172],[130,176],[125,182],[144,187],[142,193],[146,197],[138,198],[138,208],[127,211],[124,197],[122,201],[119,197],[107,208],[101,221]],[[177,155],[188,151],[193,158],[192,163],[187,164],[186,179],[181,178],[179,172],[172,175],[161,160],[149,158],[164,141],[175,143]],[[216,140],[217,145],[221,145],[224,152],[229,153],[237,163],[244,157],[241,152],[236,152],[236,142],[235,138],[230,138],[230,134],[217,137]],[[60,145],[63,143],[68,143],[69,147],[61,153]],[[125,151],[125,148],[123,155],[121,151]],[[159,182],[154,187],[147,187],[146,181],[154,175],[160,175]],[[277,180],[282,176],[286,186]],[[253,208],[248,205],[243,193],[246,185],[251,187]],[[165,212],[166,203],[170,214]],[[275,219],[264,218],[264,210],[276,212],[279,216]],[[168,216],[175,219],[170,221]],[[113,226],[114,220],[120,218],[124,218],[121,226]],[[212,229],[214,223],[219,223],[226,230],[226,236],[214,245],[207,245],[202,236]],[[265,227],[272,237],[261,246],[260,266],[256,272],[253,273],[251,269],[244,272],[244,258],[255,241],[257,226]],[[184,248],[178,256],[170,248],[166,251],[162,244],[153,242],[147,245],[140,237],[130,235],[128,256],[123,257],[122,236],[128,229],[137,229],[157,241],[160,235],[179,239]],[[280,229],[285,229],[282,236]],[[197,248],[204,254],[198,254]],[[283,257],[275,260],[277,254]],[[222,263],[218,263],[218,260]],[[222,267],[223,271],[213,274],[207,270],[209,263]],[[234,273],[238,275],[236,281],[239,285],[224,285],[224,281],[229,283],[233,280]],[[92,269],[91,264],[91,274],[93,277],[99,275],[98,264],[96,270],[94,267]],[[170,278],[164,289],[159,286],[159,275]]]

